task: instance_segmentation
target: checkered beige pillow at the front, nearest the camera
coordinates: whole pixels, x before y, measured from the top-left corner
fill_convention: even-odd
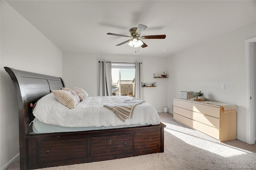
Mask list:
[[[70,109],[78,104],[76,98],[67,90],[52,90],[52,93],[58,102]]]

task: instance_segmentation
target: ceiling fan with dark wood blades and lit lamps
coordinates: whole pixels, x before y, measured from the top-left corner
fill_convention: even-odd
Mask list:
[[[126,36],[126,35],[121,35],[121,34],[114,34],[114,33],[107,33],[108,35],[112,35],[112,36],[123,36],[123,37],[129,37],[132,38],[130,40],[126,40],[124,42],[121,42],[120,44],[117,44],[116,46],[120,46],[122,44],[125,44],[127,42],[129,46],[137,48],[137,47],[147,47],[147,44],[145,44],[140,38],[142,39],[164,39],[166,38],[166,35],[152,35],[152,36],[140,36],[141,33],[146,30],[147,26],[139,24],[138,28],[131,28],[130,34],[131,36]]]

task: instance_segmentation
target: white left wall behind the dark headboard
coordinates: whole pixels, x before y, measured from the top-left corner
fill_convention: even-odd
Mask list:
[[[19,154],[18,102],[4,66],[62,76],[62,51],[18,14],[1,2],[0,51],[0,168]]]

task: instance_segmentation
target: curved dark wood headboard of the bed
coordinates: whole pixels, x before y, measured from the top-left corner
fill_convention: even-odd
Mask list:
[[[34,119],[32,114],[33,104],[49,94],[51,90],[60,90],[61,87],[65,86],[64,81],[60,77],[26,72],[9,67],[4,67],[4,69],[14,82],[18,98],[19,126],[22,126],[19,128],[25,131],[25,135],[28,135],[31,132],[28,125]]]

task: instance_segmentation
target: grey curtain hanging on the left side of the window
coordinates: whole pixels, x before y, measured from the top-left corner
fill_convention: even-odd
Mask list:
[[[111,62],[100,62],[100,95],[112,96]]]

